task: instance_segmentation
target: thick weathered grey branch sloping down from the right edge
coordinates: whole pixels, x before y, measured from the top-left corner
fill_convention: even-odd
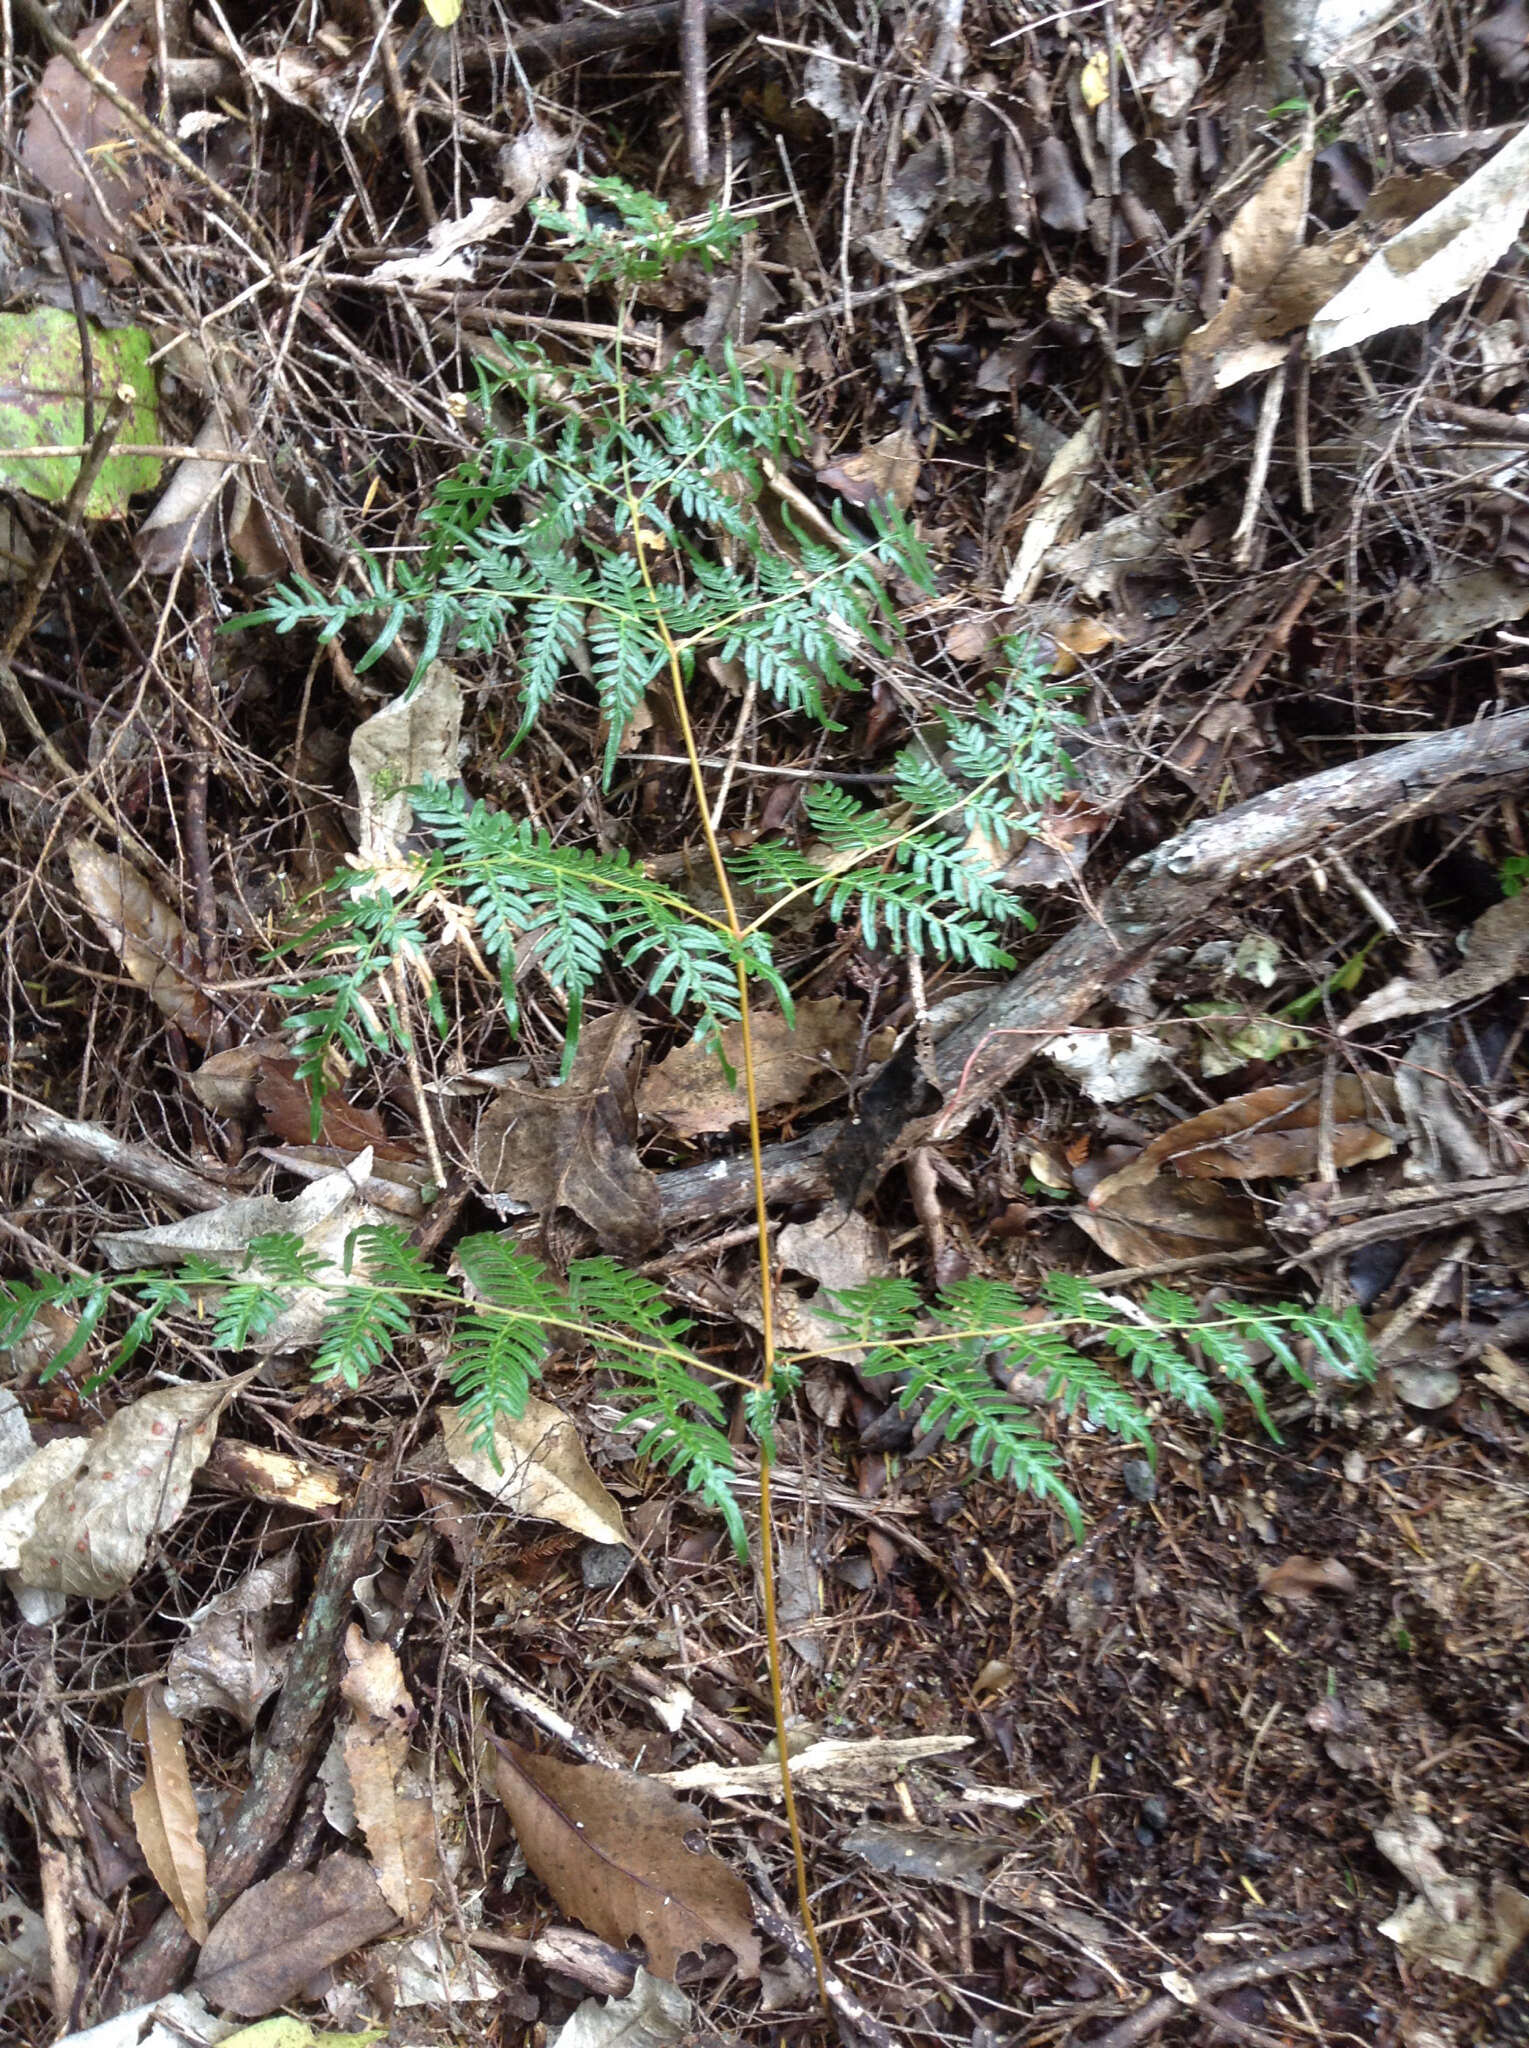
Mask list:
[[[1457,725],[1206,817],[1130,862],[1097,918],[1075,926],[937,1049],[946,1108],[903,1145],[948,1139],[1056,1032],[1226,899],[1240,881],[1337,840],[1388,831],[1445,805],[1464,809],[1529,778],[1529,711]]]

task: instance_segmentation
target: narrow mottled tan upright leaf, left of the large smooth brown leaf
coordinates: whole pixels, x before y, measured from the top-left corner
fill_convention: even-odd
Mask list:
[[[436,1896],[436,1819],[409,1780],[409,1731],[418,1714],[397,1653],[346,1630],[340,1696],[352,1712],[344,1733],[346,1776],[356,1821],[373,1855],[377,1884],[405,1927],[418,1925]]]

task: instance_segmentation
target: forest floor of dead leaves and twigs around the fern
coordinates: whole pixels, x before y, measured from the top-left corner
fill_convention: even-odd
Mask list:
[[[1523,0],[4,20],[0,2038],[127,2009],[92,2044],[276,2011],[282,2048],[542,2044],[622,2001],[641,1921],[579,1911],[587,1868],[508,1825],[495,1737],[690,1774],[686,1839],[749,1886],[763,1956],[718,1907],[684,1999],[622,2040],[1529,2040]],[[604,178],[743,233],[620,287],[567,229],[630,227]],[[811,788],[880,801],[899,750],[937,756],[1015,674],[1071,750],[989,846],[1030,920],[1013,965],[919,967],[833,903],[778,942],[784,1714],[792,1749],[847,1745],[796,1792],[827,2015],[759,1772],[745,1403],[718,1397],[749,1563],[575,1343],[538,1389],[569,1440],[495,1497],[442,1438],[444,1311],[348,1384],[315,1380],[311,1323],[231,1341],[190,1288],[139,1329],[143,1282],[108,1284],[102,1239],[164,1257],[143,1233],[178,1219],[180,1253],[313,1247],[299,1196],[338,1184],[467,1307],[452,1260],[489,1233],[551,1276],[614,1251],[706,1364],[761,1370],[741,1098],[630,965],[587,1006],[598,1085],[573,1077],[604,1149],[551,1118],[540,1180],[483,1137],[559,1077],[569,987],[534,932],[518,1030],[448,920],[356,983],[370,1059],[330,1063],[321,1122],[295,1065],[319,997],[282,989],[315,967],[278,948],[432,760],[716,911],[665,676],[612,731],[575,631],[518,737],[522,629],[448,633],[409,698],[434,711],[368,725],[418,680],[422,614],[375,666],[377,612],[315,631],[524,428],[524,389],[473,367],[510,344],[549,440],[596,350],[788,373],[772,532],[831,553],[897,508],[927,553],[927,586],[878,571],[886,633],[841,643],[831,727],[702,649],[727,852],[809,844]],[[303,590],[291,631],[225,631]],[[397,858],[420,844],[399,827]],[[1126,1323],[1165,1278],[1193,1315],[1353,1311],[1369,1368],[1271,1362],[1277,1434],[1236,1386],[1218,1427],[1142,1384],[1152,1462],[1028,1378],[1015,1325],[978,1362],[1077,1540],[813,1309],[1058,1274]],[[612,1855],[665,1892],[661,1964],[665,1853],[698,1860],[639,1833]]]

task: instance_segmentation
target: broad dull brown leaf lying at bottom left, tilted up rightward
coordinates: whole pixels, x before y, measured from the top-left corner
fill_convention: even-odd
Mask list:
[[[393,1927],[370,1868],[358,1855],[325,1855],[317,1870],[280,1870],[242,1892],[207,1937],[194,1982],[209,2005],[260,2019]]]

